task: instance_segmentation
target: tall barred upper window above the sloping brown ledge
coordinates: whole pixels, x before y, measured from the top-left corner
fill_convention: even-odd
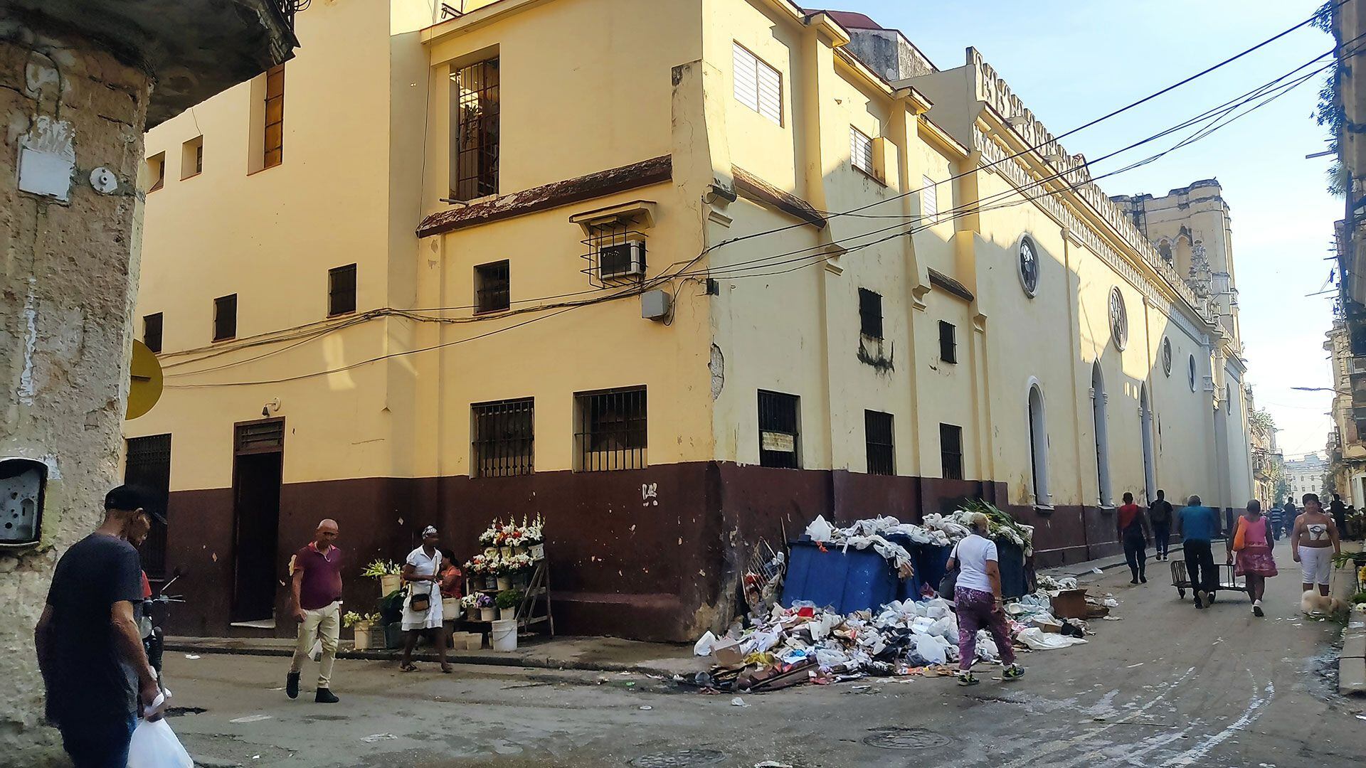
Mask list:
[[[499,193],[499,60],[451,74],[451,197]]]

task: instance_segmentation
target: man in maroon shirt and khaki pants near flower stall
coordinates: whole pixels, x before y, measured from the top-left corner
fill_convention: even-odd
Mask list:
[[[290,608],[299,622],[294,663],[284,682],[284,693],[290,698],[299,696],[299,672],[317,638],[322,641],[322,657],[318,659],[318,690],[313,701],[337,702],[331,689],[332,663],[342,631],[342,551],[332,545],[336,538],[336,521],[322,521],[313,541],[295,552],[290,562]]]

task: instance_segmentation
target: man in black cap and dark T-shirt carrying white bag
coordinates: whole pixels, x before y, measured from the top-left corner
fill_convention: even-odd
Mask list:
[[[34,630],[48,717],[76,768],[126,768],[139,698],[150,707],[160,693],[133,618],[142,567],[124,540],[145,517],[137,489],[109,491],[104,523],[57,560]]]

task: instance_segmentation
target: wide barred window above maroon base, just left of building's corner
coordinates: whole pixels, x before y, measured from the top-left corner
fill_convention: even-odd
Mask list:
[[[645,469],[645,387],[575,392],[575,471]]]

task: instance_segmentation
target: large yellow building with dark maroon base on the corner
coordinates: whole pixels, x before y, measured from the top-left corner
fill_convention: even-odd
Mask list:
[[[126,429],[172,629],[270,631],[320,517],[358,570],[540,512],[561,629],[686,640],[817,514],[982,496],[1048,564],[1115,551],[1126,491],[1247,497],[1218,317],[975,51],[787,0],[430,8],[314,4],[148,137],[167,392]]]

